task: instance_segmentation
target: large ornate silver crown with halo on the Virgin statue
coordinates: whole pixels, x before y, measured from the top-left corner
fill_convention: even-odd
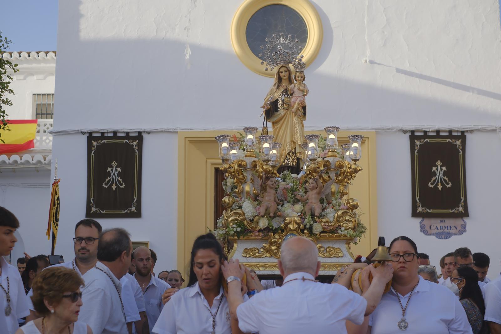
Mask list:
[[[297,38],[293,39],[291,35],[286,37],[284,33],[280,33],[279,36],[273,34],[271,39],[267,38],[265,41],[266,45],[261,46],[264,51],[259,54],[259,58],[263,60],[261,65],[266,63],[265,71],[273,71],[282,64],[303,63],[303,55],[300,55],[303,47],[296,44],[299,42]]]

